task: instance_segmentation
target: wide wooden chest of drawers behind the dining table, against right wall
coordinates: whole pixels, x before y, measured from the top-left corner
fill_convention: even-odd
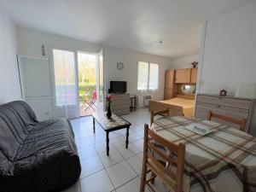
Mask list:
[[[195,118],[207,119],[207,113],[212,110],[213,113],[223,114],[236,119],[247,119],[247,132],[256,136],[256,113],[255,113],[255,100],[247,98],[238,98],[234,96],[217,96],[209,94],[198,94],[195,102]],[[213,119],[223,123],[239,128],[229,122],[219,119]]]

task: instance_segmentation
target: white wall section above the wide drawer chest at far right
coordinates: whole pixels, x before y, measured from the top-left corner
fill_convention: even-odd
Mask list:
[[[256,83],[256,2],[207,22],[200,92]]]

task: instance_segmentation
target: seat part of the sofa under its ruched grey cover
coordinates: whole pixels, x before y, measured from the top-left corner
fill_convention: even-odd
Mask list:
[[[30,158],[32,154],[44,159],[47,151],[61,151],[65,149],[72,154],[76,151],[73,130],[67,119],[53,119],[39,122],[26,140],[20,145],[15,160]]]

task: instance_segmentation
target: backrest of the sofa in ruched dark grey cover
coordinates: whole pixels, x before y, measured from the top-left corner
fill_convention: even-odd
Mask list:
[[[20,145],[38,122],[26,102],[15,101],[0,105],[0,150],[9,159],[15,157]]]

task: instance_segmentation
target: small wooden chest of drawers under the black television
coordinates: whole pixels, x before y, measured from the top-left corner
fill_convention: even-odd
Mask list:
[[[111,94],[111,110],[117,115],[130,113],[130,94]]]

